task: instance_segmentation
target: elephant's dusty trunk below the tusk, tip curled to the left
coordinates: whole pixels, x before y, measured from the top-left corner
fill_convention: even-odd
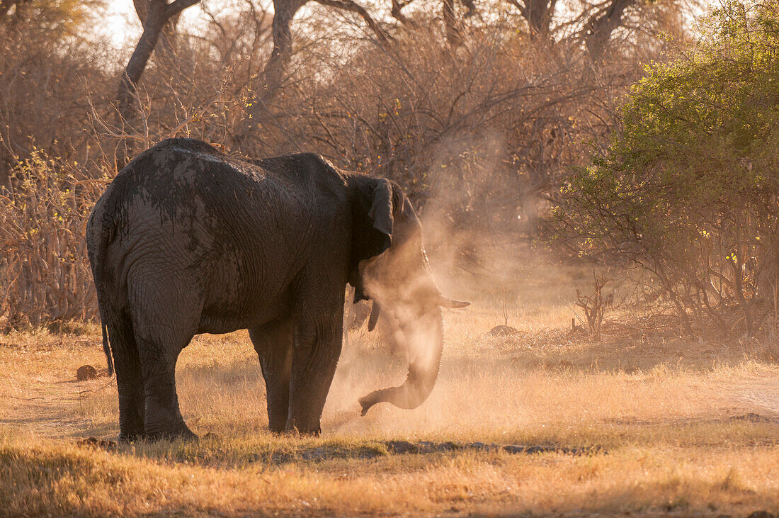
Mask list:
[[[411,410],[424,403],[435,386],[443,351],[441,309],[436,305],[417,319],[400,319],[400,328],[411,354],[406,381],[403,385],[375,390],[361,397],[361,415],[382,401]]]

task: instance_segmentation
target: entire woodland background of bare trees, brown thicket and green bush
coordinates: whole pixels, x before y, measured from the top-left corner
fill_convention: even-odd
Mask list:
[[[117,48],[104,0],[0,1],[0,327],[96,317],[91,206],[189,136],[392,178],[432,253],[488,282],[485,249],[519,244],[619,272],[682,334],[773,340],[777,2],[134,5]]]

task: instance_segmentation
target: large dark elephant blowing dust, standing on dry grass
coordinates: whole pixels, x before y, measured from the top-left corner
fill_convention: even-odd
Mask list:
[[[176,393],[178,355],[199,333],[248,329],[271,432],[321,433],[343,340],[344,294],[392,308],[418,344],[407,379],[359,399],[414,408],[442,355],[441,307],[403,189],[315,153],[250,159],[195,139],[143,151],[86,225],[119,439],[196,440]]]

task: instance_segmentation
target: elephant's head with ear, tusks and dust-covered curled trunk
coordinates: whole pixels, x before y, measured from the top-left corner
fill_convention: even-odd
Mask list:
[[[383,178],[364,181],[354,213],[350,273],[354,301],[373,300],[373,322],[382,306],[392,310],[409,346],[410,365],[403,385],[360,398],[362,415],[382,401],[412,409],[427,399],[443,349],[440,308],[469,304],[444,297],[435,286],[422,245],[421,222],[400,186]]]

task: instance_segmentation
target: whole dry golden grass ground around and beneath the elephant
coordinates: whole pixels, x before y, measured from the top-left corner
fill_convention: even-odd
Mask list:
[[[404,361],[354,333],[320,439],[264,431],[262,378],[245,333],[203,336],[178,366],[182,411],[197,444],[76,446],[118,433],[115,385],[76,382],[104,366],[98,329],[83,337],[0,338],[0,513],[422,514],[779,511],[779,368],[740,344],[570,335],[576,270],[534,273],[502,312],[446,315],[439,384],[415,411],[358,396],[404,376]],[[452,288],[452,287],[450,287]],[[452,292],[454,291],[454,292]],[[470,296],[470,297],[469,297]],[[748,413],[764,419],[739,419]],[[512,455],[460,449],[388,453],[384,440],[600,447],[600,453]],[[325,453],[319,455],[319,453]],[[312,455],[312,453],[317,453]]]

